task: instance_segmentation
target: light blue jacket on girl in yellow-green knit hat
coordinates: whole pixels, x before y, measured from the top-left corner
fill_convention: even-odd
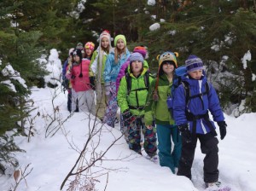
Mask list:
[[[111,51],[109,53],[106,64],[105,64],[104,74],[103,74],[105,84],[108,84],[110,82],[116,82],[120,68],[125,63],[125,61],[130,57],[130,55],[131,54],[129,50],[126,49],[126,55],[122,55],[121,58],[119,58],[118,63],[115,63],[114,52]]]

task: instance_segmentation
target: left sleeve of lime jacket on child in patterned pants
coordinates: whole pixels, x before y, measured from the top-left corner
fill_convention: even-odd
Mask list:
[[[123,77],[120,81],[119,91],[118,91],[118,105],[121,109],[121,113],[123,113],[126,109],[129,109],[127,102],[127,83],[125,77]]]

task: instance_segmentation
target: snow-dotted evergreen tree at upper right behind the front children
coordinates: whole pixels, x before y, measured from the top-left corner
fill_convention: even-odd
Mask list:
[[[255,111],[255,60],[243,68],[241,58],[248,50],[255,54],[256,14],[252,1],[247,1],[246,9],[239,2],[183,1],[166,22],[160,23],[160,30],[148,32],[147,42],[153,54],[166,49],[179,52],[179,63],[190,54],[200,56],[209,69],[208,77],[219,86],[222,105],[228,109],[247,98],[247,111]]]

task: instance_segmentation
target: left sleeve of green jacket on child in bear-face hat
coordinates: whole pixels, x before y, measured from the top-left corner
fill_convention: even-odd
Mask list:
[[[145,119],[146,125],[151,125],[154,121],[153,92],[154,92],[155,79],[151,79],[151,80],[152,81],[149,85],[148,96],[147,96],[147,101],[145,105],[145,113],[144,113],[144,119]]]

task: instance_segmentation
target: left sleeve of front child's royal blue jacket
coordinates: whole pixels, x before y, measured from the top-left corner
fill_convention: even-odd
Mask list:
[[[180,84],[174,92],[173,98],[173,118],[175,124],[187,124],[188,120],[186,118],[186,97],[183,85]]]

